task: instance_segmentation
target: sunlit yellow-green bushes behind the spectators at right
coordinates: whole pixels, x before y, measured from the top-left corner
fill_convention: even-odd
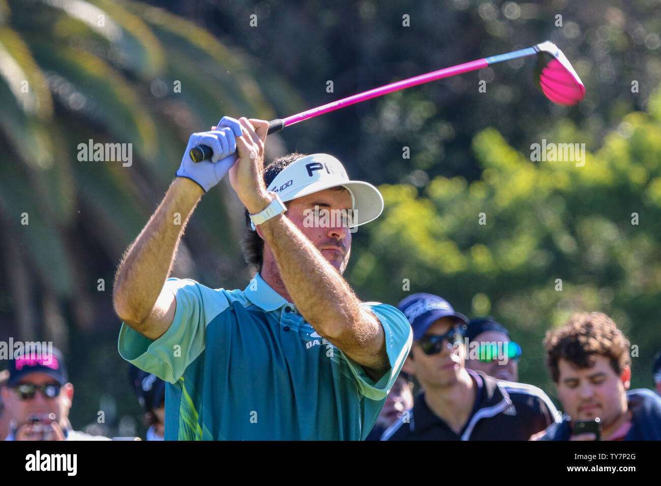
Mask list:
[[[603,311],[637,346],[633,384],[650,386],[661,344],[661,89],[648,106],[584,165],[531,161],[534,147],[516,151],[487,128],[472,145],[480,179],[381,186],[386,209],[365,226],[369,245],[356,245],[350,280],[393,304],[434,292],[461,312],[494,315],[522,343],[522,381],[549,391],[545,331],[574,311]],[[582,135],[564,122],[547,142],[572,140]]]

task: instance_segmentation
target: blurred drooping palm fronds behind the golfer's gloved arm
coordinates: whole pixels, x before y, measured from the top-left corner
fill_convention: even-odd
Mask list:
[[[97,278],[109,285],[112,278],[107,271],[75,274],[75,233],[88,233],[83,240],[91,233],[116,259],[173,178],[191,132],[226,110],[271,110],[235,55],[167,11],[3,0],[0,12],[6,237],[22,248],[38,285],[59,298],[85,298],[97,291]],[[134,162],[79,160],[79,143],[89,139],[131,143]],[[236,256],[234,245],[222,244],[227,204],[219,192],[208,199],[215,204],[202,206],[204,237]],[[28,224],[21,224],[23,213]]]

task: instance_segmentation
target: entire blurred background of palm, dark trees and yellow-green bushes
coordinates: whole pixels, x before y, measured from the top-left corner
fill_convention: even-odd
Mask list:
[[[524,348],[522,381],[552,396],[545,330],[602,310],[639,346],[633,385],[648,387],[661,347],[660,31],[656,0],[0,0],[0,339],[54,340],[77,388],[73,425],[103,409],[117,430],[138,408],[116,351],[113,272],[191,132],[549,39],[586,85],[576,107],[547,101],[533,62],[517,60],[293,126],[268,157],[324,151],[383,184],[386,210],[355,233],[347,272],[362,298],[435,292],[494,315]],[[131,167],[79,161],[89,139],[133,143]],[[585,143],[585,166],[531,161],[542,139]],[[175,276],[243,288],[241,216],[229,185],[205,196]]]

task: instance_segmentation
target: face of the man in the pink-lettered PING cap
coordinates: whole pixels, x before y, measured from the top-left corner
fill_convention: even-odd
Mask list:
[[[19,384],[57,384],[56,380],[47,374],[34,372],[26,374],[19,382]],[[69,415],[69,408],[71,407],[71,398],[73,397],[73,385],[67,383],[59,390],[59,395],[53,398],[44,396],[41,390],[36,390],[34,397],[26,400],[21,400],[14,387],[5,387],[2,391],[5,407],[10,419],[17,422],[18,426],[27,422],[28,417],[32,414],[49,415],[54,413],[56,422],[61,423],[61,419]]]

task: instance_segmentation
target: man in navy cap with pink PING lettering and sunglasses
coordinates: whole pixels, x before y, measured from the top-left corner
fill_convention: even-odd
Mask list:
[[[71,427],[73,385],[55,347],[27,350],[9,360],[2,397],[11,423],[5,440],[110,440]]]

